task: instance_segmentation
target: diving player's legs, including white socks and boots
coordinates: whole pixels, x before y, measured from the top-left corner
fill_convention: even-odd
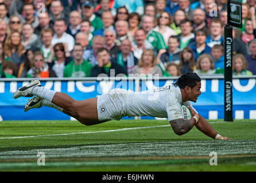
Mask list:
[[[76,101],[65,93],[55,92],[42,87],[40,81],[38,80],[34,80],[28,85],[21,87],[13,95],[14,98],[19,98],[22,96],[38,96],[38,98],[33,98],[30,100],[28,104],[38,102],[39,105],[35,108],[40,108],[42,105],[55,108],[73,118],[76,118],[76,120],[84,125],[95,125],[104,122],[98,120],[97,98]],[[42,101],[41,98],[43,98],[45,101]],[[25,106],[25,112],[29,110],[26,109],[28,104]]]

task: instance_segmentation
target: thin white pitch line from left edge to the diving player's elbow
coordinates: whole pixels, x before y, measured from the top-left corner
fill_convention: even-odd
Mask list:
[[[170,126],[170,125],[141,126],[141,127],[134,127],[134,128],[122,128],[122,129],[103,130],[103,131],[96,131],[96,132],[61,133],[61,134],[49,134],[49,135],[38,135],[38,136],[21,136],[21,137],[1,137],[0,140],[3,140],[3,139],[13,139],[13,138],[34,138],[34,137],[51,137],[51,136],[71,136],[71,135],[76,135],[76,134],[102,133],[102,132],[119,132],[119,131],[125,131],[125,130],[137,130],[137,129],[146,129],[146,128],[159,128],[159,127],[166,127],[166,126]]]

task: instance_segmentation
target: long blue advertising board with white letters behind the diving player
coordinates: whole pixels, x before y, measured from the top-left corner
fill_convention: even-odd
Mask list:
[[[42,86],[56,92],[64,92],[75,100],[97,97],[110,89],[123,88],[133,91],[153,89],[173,83],[175,80],[133,79],[113,81],[41,81]],[[233,79],[233,115],[234,119],[256,118],[256,83],[255,78]],[[0,81],[0,120],[71,120],[71,117],[55,109],[43,106],[24,112],[24,105],[29,98],[20,97],[16,100],[13,93],[29,81]],[[139,84],[138,84],[139,83]],[[201,95],[196,103],[192,102],[197,112],[207,119],[224,118],[224,80],[202,79]],[[125,117],[126,119],[128,117]],[[141,117],[152,119],[152,117]]]

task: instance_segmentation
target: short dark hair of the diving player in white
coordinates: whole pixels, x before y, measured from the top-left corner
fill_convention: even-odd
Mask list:
[[[179,86],[181,89],[184,89],[186,86],[193,88],[196,86],[197,82],[200,81],[201,78],[196,73],[189,72],[181,75],[174,83],[174,86]]]

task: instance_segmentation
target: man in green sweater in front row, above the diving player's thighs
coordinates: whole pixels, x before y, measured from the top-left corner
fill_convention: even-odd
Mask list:
[[[72,51],[74,59],[65,66],[64,77],[89,77],[91,75],[92,65],[83,59],[83,53],[83,46],[76,43]]]

